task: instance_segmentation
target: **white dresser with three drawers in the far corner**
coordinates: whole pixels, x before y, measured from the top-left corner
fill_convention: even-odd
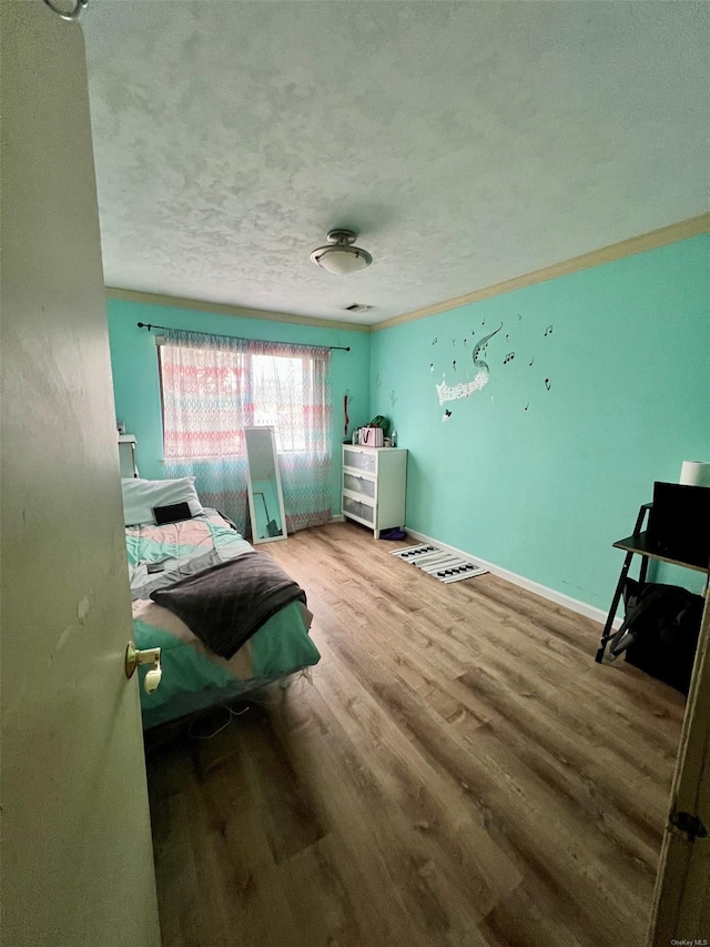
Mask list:
[[[343,444],[343,515],[382,530],[404,526],[407,451]]]

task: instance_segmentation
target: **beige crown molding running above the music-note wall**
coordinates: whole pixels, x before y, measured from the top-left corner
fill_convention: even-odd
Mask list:
[[[544,266],[541,270],[534,270],[531,273],[514,276],[511,280],[505,280],[503,283],[495,283],[491,286],[474,290],[463,296],[455,296],[444,302],[416,309],[413,312],[395,315],[384,322],[376,322],[372,325],[372,331],[382,332],[383,329],[392,329],[392,326],[402,325],[405,322],[415,322],[418,319],[426,319],[428,315],[448,312],[452,309],[458,309],[473,302],[480,302],[481,300],[498,296],[503,293],[511,293],[514,290],[534,286],[536,283],[544,283],[547,280],[555,280],[558,276],[567,276],[580,270],[589,270],[591,266],[611,263],[615,260],[622,260],[625,256],[645,253],[647,250],[655,250],[658,246],[666,246],[668,243],[677,243],[680,240],[688,240],[691,236],[699,236],[701,233],[708,232],[710,232],[710,213],[700,214],[679,223],[671,223],[669,226],[652,230],[650,233],[630,236],[628,240],[610,243],[608,246],[602,246],[599,250],[581,253],[579,256],[572,256],[569,260],[564,260],[561,263],[554,263],[551,266]]]

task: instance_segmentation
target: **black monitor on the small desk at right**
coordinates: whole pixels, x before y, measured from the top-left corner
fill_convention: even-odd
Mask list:
[[[648,541],[666,558],[706,568],[710,562],[710,487],[656,482]]]

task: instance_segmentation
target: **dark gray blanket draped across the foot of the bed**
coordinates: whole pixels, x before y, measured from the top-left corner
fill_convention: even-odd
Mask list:
[[[151,593],[221,657],[232,657],[284,605],[306,594],[265,553],[250,552]]]

